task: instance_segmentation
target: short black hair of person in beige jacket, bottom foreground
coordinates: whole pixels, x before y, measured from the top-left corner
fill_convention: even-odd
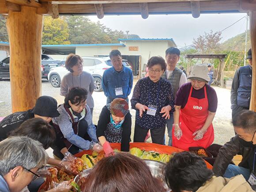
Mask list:
[[[211,179],[213,172],[207,169],[204,160],[196,154],[183,151],[174,154],[164,167],[166,184],[173,192],[182,190],[196,192]]]

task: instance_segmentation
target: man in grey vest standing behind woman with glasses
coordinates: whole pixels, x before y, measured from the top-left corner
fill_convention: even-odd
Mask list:
[[[183,85],[184,83],[187,83],[187,76],[184,74],[184,72],[182,72],[180,69],[176,67],[180,59],[180,55],[181,55],[180,50],[175,47],[170,47],[166,49],[167,68],[166,68],[166,71],[163,73],[162,78],[167,79],[171,82],[173,87],[174,99],[181,85]],[[170,113],[170,119],[166,120],[166,126],[167,126],[168,137],[169,137],[168,145],[172,146],[173,113]],[[164,139],[164,142],[165,142],[165,139]]]

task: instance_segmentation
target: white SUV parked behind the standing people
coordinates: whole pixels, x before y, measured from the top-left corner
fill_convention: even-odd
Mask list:
[[[96,88],[94,91],[102,91],[102,76],[106,69],[111,68],[112,62],[108,57],[82,56],[83,71],[89,72],[94,77]],[[127,60],[123,60],[125,67],[131,68]],[[53,87],[60,87],[61,79],[68,73],[68,70],[62,67],[52,68],[48,74],[49,82]]]

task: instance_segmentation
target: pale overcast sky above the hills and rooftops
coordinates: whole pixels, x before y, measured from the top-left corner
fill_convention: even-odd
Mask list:
[[[192,15],[149,15],[142,19],[140,15],[105,15],[103,19],[89,16],[92,21],[100,21],[112,30],[129,30],[130,34],[137,34],[140,38],[173,38],[178,48],[192,44],[197,38],[210,30],[221,31],[237,20],[245,17],[246,13],[230,14],[201,14],[194,19]],[[249,24],[248,24],[249,28]],[[246,19],[222,32],[222,42],[245,32]]]

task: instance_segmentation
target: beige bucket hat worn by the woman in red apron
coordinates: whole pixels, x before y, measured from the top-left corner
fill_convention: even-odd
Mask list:
[[[191,74],[188,76],[188,79],[196,79],[201,81],[210,81],[210,77],[208,75],[208,67],[205,64],[197,64],[192,68]]]

